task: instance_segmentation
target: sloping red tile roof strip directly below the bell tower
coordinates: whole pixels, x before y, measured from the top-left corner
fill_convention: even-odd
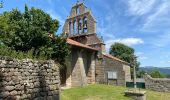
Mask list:
[[[94,51],[98,51],[97,49],[94,49],[90,46],[84,45],[82,43],[79,43],[77,41],[74,41],[72,39],[67,38],[67,43],[73,46],[77,46],[77,47],[81,47],[81,48],[86,48],[86,49],[90,49],[90,50],[94,50]]]

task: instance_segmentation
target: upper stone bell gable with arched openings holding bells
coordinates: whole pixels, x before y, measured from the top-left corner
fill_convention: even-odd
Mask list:
[[[65,21],[63,33],[68,37],[96,33],[96,20],[84,3],[77,2],[73,5]]]

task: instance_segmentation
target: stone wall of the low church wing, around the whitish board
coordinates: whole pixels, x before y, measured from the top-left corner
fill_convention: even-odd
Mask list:
[[[108,72],[116,72],[117,79],[108,79]],[[114,59],[103,57],[96,63],[96,82],[109,85],[126,86],[126,81],[131,80],[130,67]]]

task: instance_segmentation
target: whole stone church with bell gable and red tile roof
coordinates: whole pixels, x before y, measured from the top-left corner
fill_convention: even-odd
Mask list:
[[[62,71],[66,87],[101,83],[125,86],[131,80],[129,63],[105,52],[105,43],[97,36],[96,19],[84,3],[76,3],[66,18],[63,34],[68,37],[71,54]]]

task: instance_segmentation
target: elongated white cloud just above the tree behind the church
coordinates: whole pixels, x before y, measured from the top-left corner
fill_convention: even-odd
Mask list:
[[[140,38],[123,38],[123,39],[115,39],[115,40],[108,40],[106,41],[106,50],[108,51],[110,46],[114,44],[115,42],[123,43],[128,46],[143,44],[144,41]]]

